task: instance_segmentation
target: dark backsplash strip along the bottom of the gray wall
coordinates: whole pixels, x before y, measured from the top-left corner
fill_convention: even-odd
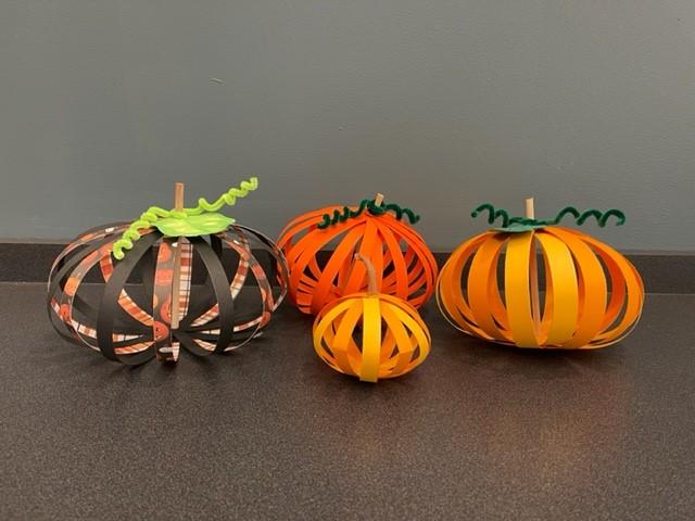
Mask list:
[[[63,244],[0,242],[0,282],[45,282]],[[265,254],[264,254],[265,255]],[[447,252],[434,254],[440,266]],[[648,293],[695,293],[695,253],[628,253]]]

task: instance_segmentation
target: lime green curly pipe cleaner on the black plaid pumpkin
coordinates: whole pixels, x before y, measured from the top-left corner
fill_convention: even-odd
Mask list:
[[[125,256],[124,250],[130,250],[134,245],[134,241],[140,239],[141,231],[162,224],[164,219],[179,219],[181,224],[186,219],[203,214],[212,214],[217,212],[224,205],[233,206],[237,203],[238,198],[245,198],[249,192],[252,192],[258,188],[258,178],[252,177],[248,181],[241,181],[239,188],[232,187],[223,193],[216,201],[210,203],[205,198],[198,200],[198,206],[194,208],[184,208],[181,211],[164,209],[159,206],[151,206],[140,215],[140,217],[132,221],[128,229],[123,232],[121,239],[114,242],[113,256],[121,260]],[[220,216],[222,217],[222,216]],[[217,223],[222,223],[220,219],[216,219]],[[225,218],[225,223],[233,223],[233,219]],[[202,229],[202,228],[201,228]]]

